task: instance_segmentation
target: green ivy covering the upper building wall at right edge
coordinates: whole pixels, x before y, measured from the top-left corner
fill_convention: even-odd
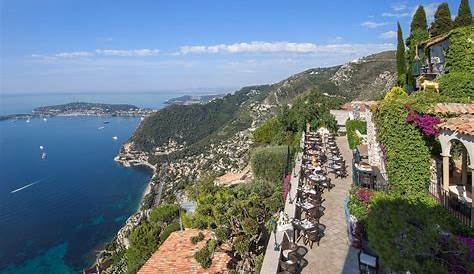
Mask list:
[[[474,26],[457,28],[449,37],[446,72],[466,72],[474,75]]]

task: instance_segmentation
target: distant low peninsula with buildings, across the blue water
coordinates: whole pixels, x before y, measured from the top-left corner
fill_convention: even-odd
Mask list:
[[[61,105],[42,106],[33,109],[32,113],[9,114],[0,116],[1,120],[30,119],[35,117],[54,116],[125,116],[137,117],[152,113],[149,108],[139,108],[130,104],[102,104],[72,102]]]

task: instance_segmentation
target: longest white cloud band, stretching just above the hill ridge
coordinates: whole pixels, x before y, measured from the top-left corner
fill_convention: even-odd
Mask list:
[[[182,54],[216,54],[216,53],[297,53],[297,54],[317,54],[317,53],[357,53],[362,49],[387,50],[391,49],[391,44],[327,44],[317,45],[313,43],[291,43],[291,42],[242,42],[235,44],[218,45],[194,45],[183,46],[180,49]]]

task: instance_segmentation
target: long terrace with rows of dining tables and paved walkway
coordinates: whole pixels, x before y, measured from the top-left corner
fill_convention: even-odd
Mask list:
[[[347,139],[309,132],[301,145],[261,273],[359,273],[344,210],[352,179]]]

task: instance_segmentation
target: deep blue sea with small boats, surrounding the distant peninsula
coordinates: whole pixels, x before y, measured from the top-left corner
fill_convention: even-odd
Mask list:
[[[71,101],[160,108],[179,95],[2,95],[0,113]],[[94,261],[95,251],[138,209],[151,177],[145,168],[125,168],[113,160],[138,120],[0,121],[1,274],[77,273]]]

